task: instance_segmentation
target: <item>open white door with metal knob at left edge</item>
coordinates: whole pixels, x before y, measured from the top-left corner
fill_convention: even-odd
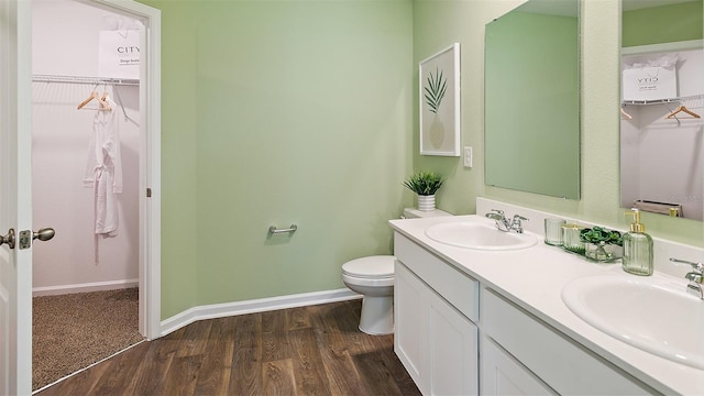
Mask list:
[[[31,2],[0,0],[0,394],[32,392]],[[10,249],[10,231],[15,245]],[[31,235],[29,241],[31,242]]]

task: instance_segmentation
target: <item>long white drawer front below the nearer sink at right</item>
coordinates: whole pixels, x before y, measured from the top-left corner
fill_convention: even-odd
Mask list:
[[[645,395],[656,392],[530,314],[482,289],[482,329],[560,394]]]

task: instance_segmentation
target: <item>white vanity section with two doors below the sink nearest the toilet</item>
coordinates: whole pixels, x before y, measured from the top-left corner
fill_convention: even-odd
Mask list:
[[[396,354],[424,395],[476,395],[479,283],[403,237],[395,255]]]

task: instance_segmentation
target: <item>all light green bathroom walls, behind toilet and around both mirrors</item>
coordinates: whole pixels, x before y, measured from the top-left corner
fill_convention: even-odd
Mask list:
[[[448,177],[439,206],[485,196],[626,227],[618,208],[619,4],[585,1],[582,199],[484,186],[484,24],[520,0],[141,0],[162,10],[162,317],[342,287],[350,258],[392,252],[414,169]],[[460,42],[458,157],[418,154],[418,62]],[[702,223],[648,216],[702,244]],[[271,224],[297,223],[290,238]]]

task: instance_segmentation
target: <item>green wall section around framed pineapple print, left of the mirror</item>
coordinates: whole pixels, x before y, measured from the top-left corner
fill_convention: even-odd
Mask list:
[[[448,180],[437,194],[438,207],[455,215],[476,211],[476,197],[484,189],[484,25],[519,6],[506,1],[414,0],[414,67],[449,43],[460,43],[461,122],[463,146],[472,146],[473,167],[464,168],[458,157],[419,155],[418,122],[414,123],[414,169],[437,170]],[[414,87],[417,95],[418,85]],[[414,120],[418,103],[414,102]]]

